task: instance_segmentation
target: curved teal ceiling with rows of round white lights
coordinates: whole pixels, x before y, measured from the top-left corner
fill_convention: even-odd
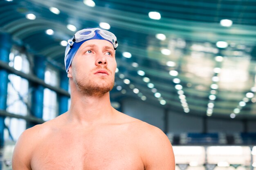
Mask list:
[[[119,44],[112,101],[131,97],[175,113],[256,118],[256,0],[94,3],[90,7],[83,0],[1,0],[0,31],[64,71],[65,47],[60,42],[75,33],[67,24],[79,30],[106,22]],[[150,11],[160,13],[161,19],[151,19]],[[27,19],[29,13],[36,19]],[[224,19],[233,24],[222,26]],[[54,34],[47,35],[47,29]],[[157,39],[157,34],[165,37]]]

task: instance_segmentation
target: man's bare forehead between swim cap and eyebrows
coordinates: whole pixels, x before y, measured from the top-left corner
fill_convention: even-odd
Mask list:
[[[113,44],[111,44],[109,41],[107,40],[103,40],[103,39],[91,39],[88,41],[85,41],[80,48],[86,48],[88,46],[93,46],[93,47],[97,47],[97,48],[111,48],[114,50],[114,46]]]

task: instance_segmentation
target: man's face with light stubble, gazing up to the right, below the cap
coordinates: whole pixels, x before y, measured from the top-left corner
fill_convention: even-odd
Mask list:
[[[114,87],[116,68],[113,45],[106,40],[92,39],[76,52],[68,77],[82,94],[101,96]]]

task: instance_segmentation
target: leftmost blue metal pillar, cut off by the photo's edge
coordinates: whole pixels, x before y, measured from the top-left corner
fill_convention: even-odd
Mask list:
[[[9,54],[11,51],[11,37],[8,34],[0,33],[0,60],[9,63]],[[0,110],[6,110],[7,107],[7,84],[8,73],[6,70],[0,68]],[[4,116],[0,116],[0,150],[4,146]],[[0,151],[0,159],[2,155]],[[0,170],[2,163],[0,163]]]

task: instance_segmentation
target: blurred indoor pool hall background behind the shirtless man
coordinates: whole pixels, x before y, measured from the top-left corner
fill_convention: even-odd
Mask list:
[[[159,127],[176,170],[256,170],[256,0],[0,0],[0,169],[68,110],[67,39],[117,37],[111,104]]]

